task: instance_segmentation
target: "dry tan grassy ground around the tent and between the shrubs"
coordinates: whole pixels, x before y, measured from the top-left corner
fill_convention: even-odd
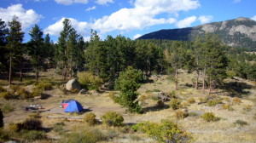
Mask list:
[[[43,111],[41,112],[42,117],[44,117],[44,126],[52,127],[55,121],[54,119],[45,117],[80,117],[83,118],[88,112],[94,112],[96,118],[100,119],[101,116],[108,112],[114,111],[119,112],[125,118],[125,124],[141,123],[143,121],[157,122],[160,123],[162,119],[170,119],[180,125],[184,130],[192,133],[195,136],[195,142],[198,143],[213,143],[213,142],[243,142],[243,143],[253,143],[256,142],[256,84],[249,81],[238,81],[250,85],[250,89],[243,89],[241,93],[241,103],[232,105],[232,110],[224,109],[221,106],[206,106],[206,104],[198,104],[200,98],[207,96],[207,93],[203,93],[201,89],[194,89],[189,85],[193,85],[191,78],[194,76],[192,74],[182,73],[179,75],[179,89],[176,95],[179,100],[183,103],[189,98],[193,97],[195,103],[188,104],[185,108],[188,112],[195,112],[198,116],[195,117],[185,117],[184,119],[177,119],[175,117],[175,112],[171,108],[167,107],[169,102],[166,102],[164,107],[159,108],[157,106],[157,101],[152,100],[152,94],[149,90],[158,89],[162,92],[172,92],[174,90],[174,83],[168,79],[168,76],[159,76],[152,78],[154,82],[145,83],[138,89],[141,95],[146,97],[143,100],[143,114],[132,114],[125,112],[125,108],[119,106],[119,104],[114,103],[112,99],[108,97],[109,92],[104,91],[96,95],[92,94],[63,94],[61,89],[55,87],[53,90],[45,91],[51,96],[46,100],[0,100],[0,104],[10,104],[15,107],[14,112],[4,115],[4,123],[8,124],[11,122],[20,122],[26,117],[28,117],[31,112],[26,112],[23,110],[22,106],[29,105],[41,105],[43,106]],[[245,92],[247,91],[247,92]],[[214,95],[222,99],[226,99],[227,103],[233,100],[235,97],[231,97],[222,89],[213,90]],[[246,94],[244,94],[246,93]],[[81,114],[72,114],[64,112],[63,108],[60,108],[61,100],[74,99],[78,100],[86,112]],[[226,104],[225,100],[223,101]],[[250,106],[250,110],[245,110],[246,106]],[[219,118],[217,122],[206,122],[201,118],[201,115],[205,112],[213,112],[216,117]],[[241,126],[236,124],[236,120],[243,120],[247,122],[247,125]],[[72,126],[77,126],[80,123],[69,123]],[[126,135],[126,137],[125,137]],[[122,137],[117,138],[113,142],[131,142],[127,135],[123,134]],[[49,134],[49,136],[54,136]],[[143,137],[143,140],[137,140],[132,142],[154,142],[147,137]]]

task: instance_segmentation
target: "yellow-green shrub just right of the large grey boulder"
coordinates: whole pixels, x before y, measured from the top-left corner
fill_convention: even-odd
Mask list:
[[[96,89],[102,85],[103,80],[100,77],[94,76],[90,72],[79,72],[78,73],[79,83],[85,89]]]

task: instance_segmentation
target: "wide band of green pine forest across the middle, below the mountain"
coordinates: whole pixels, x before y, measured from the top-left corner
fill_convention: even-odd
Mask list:
[[[22,80],[22,72],[32,69],[38,79],[40,71],[55,68],[64,80],[88,71],[113,87],[119,72],[128,66],[147,76],[173,73],[176,81],[177,69],[195,71],[198,75],[203,73],[210,85],[211,81],[219,83],[227,76],[256,79],[255,53],[227,47],[217,35],[195,37],[190,42],[133,41],[123,36],[108,36],[101,40],[96,31],[91,31],[90,41],[84,42],[66,19],[57,43],[50,42],[48,34],[43,37],[44,33],[37,25],[29,31],[31,40],[22,43],[24,32],[18,17],[14,17],[8,26],[1,21],[1,72],[9,73],[9,83],[18,72]]]

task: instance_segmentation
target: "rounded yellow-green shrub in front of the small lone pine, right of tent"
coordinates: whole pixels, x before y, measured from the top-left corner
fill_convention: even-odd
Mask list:
[[[102,116],[102,123],[108,126],[120,126],[124,121],[124,117],[117,112],[107,112]]]

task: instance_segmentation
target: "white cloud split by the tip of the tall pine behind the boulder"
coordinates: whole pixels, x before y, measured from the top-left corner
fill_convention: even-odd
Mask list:
[[[81,34],[82,36],[90,34],[90,23],[79,22],[78,20],[75,20],[73,18],[68,19],[71,21],[73,28],[75,28],[75,30],[77,30],[79,34]],[[65,20],[65,18],[61,18],[61,20],[58,20],[55,24],[45,28],[44,33],[49,33],[49,35],[60,36],[60,33],[63,30],[63,20]]]

